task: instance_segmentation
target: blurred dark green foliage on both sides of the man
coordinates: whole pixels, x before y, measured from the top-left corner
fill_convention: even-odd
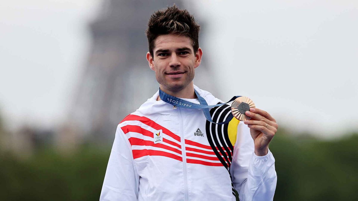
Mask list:
[[[358,133],[334,140],[288,133],[280,129],[270,145],[275,201],[358,200]],[[93,144],[68,153],[43,144],[27,157],[2,150],[1,200],[98,200],[110,151]]]

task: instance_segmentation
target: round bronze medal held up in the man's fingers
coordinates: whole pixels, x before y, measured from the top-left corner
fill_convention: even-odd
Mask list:
[[[245,115],[246,111],[254,108],[255,103],[250,98],[241,96],[236,98],[231,104],[232,115],[240,121],[250,120],[251,118]]]

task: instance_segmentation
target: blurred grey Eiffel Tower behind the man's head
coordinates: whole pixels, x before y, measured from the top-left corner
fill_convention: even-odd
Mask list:
[[[145,29],[154,11],[174,3],[187,9],[178,0],[103,1],[98,18],[90,24],[92,48],[73,97],[69,114],[72,132],[63,131],[59,138],[113,142],[117,124],[158,90],[155,74],[145,59]],[[199,24],[203,30],[203,23]],[[202,63],[197,69],[194,84],[212,92],[212,80],[205,83],[207,68]]]

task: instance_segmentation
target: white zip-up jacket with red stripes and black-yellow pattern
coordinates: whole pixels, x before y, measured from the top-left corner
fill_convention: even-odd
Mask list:
[[[214,105],[221,100],[194,85]],[[159,92],[118,124],[101,201],[273,200],[277,175],[269,150],[256,156],[250,129],[233,118],[210,123],[201,109],[173,107]],[[185,99],[193,103],[195,99]],[[230,106],[210,110],[223,122]]]

